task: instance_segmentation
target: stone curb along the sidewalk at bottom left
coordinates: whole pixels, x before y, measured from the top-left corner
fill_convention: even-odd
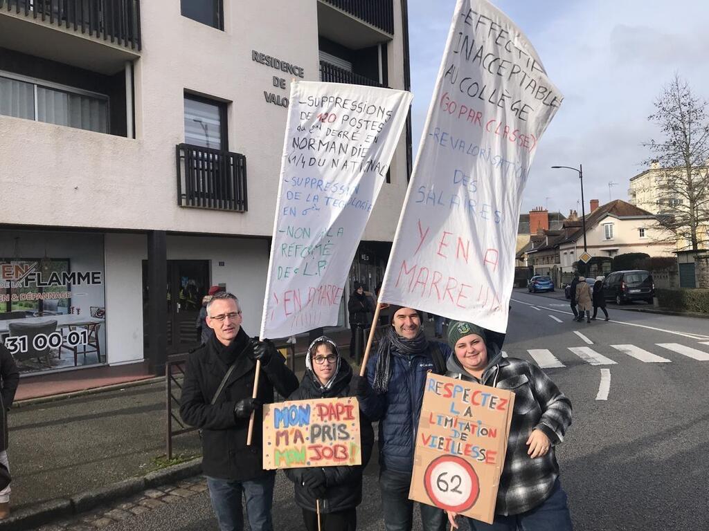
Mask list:
[[[191,461],[176,464],[174,467],[156,470],[141,477],[124,479],[98,489],[75,494],[69,498],[56,498],[37,503],[18,510],[16,513],[11,513],[9,518],[1,520],[0,530],[28,531],[36,529],[40,525],[50,523],[57,518],[84,513],[87,510],[121,498],[128,498],[128,496],[133,496],[133,494],[147,489],[197,476],[201,472],[202,458],[197,457]]]

